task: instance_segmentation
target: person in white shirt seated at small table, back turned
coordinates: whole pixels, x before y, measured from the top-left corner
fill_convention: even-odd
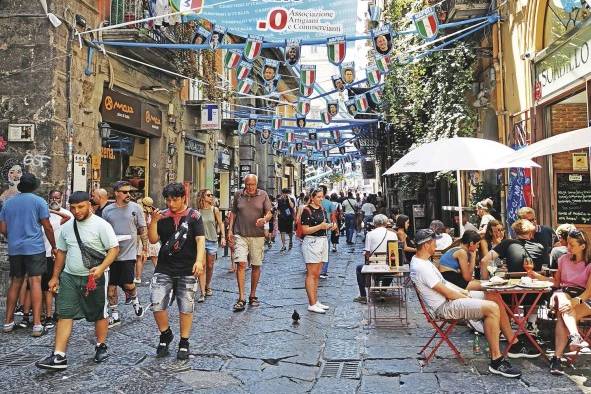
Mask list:
[[[363,248],[363,255],[366,263],[369,263],[369,258],[376,254],[385,254],[388,251],[388,241],[398,241],[398,237],[393,230],[386,228],[388,225],[388,217],[386,215],[378,214],[373,217],[374,229],[367,233],[365,237],[365,248]],[[365,292],[365,278],[361,273],[363,264],[357,266],[357,286],[359,286],[359,297],[355,297],[353,301],[365,303],[367,302],[367,294]]]

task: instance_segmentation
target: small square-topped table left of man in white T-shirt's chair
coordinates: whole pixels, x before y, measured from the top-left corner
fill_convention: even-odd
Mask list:
[[[401,327],[408,326],[407,293],[405,279],[410,275],[408,265],[390,267],[387,264],[369,264],[361,268],[366,276],[368,326]],[[384,278],[391,278],[389,285],[383,285]],[[376,299],[386,295],[398,300],[397,313],[393,316],[378,317]]]

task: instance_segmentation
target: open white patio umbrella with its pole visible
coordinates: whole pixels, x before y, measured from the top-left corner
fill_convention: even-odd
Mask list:
[[[530,159],[516,160],[508,146],[484,138],[444,138],[418,146],[404,155],[384,175],[409,172],[456,171],[458,212],[462,224],[460,171],[482,171],[509,167],[540,167]]]

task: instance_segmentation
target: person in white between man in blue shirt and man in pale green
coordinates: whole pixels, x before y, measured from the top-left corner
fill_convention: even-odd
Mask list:
[[[52,190],[49,192],[49,222],[53,228],[53,238],[57,241],[61,233],[61,227],[68,220],[72,219],[72,214],[65,208],[62,208],[62,192]],[[51,252],[51,243],[47,236],[43,236],[45,241],[45,257],[47,258],[47,270],[41,276],[41,290],[43,291],[43,303],[45,306],[45,328],[53,328],[55,319],[53,318],[53,299],[54,293],[49,291],[49,280],[53,275],[54,257]]]

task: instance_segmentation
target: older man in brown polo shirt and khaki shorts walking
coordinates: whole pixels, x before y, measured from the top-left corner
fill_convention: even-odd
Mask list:
[[[254,174],[244,177],[244,189],[237,192],[232,202],[232,213],[228,240],[234,249],[236,264],[236,282],[238,283],[238,300],[234,311],[245,309],[244,282],[248,262],[252,267],[250,274],[250,296],[248,304],[259,306],[256,296],[257,285],[261,276],[265,248],[265,223],[272,218],[272,206],[269,196],[264,190],[257,188],[258,178]]]

